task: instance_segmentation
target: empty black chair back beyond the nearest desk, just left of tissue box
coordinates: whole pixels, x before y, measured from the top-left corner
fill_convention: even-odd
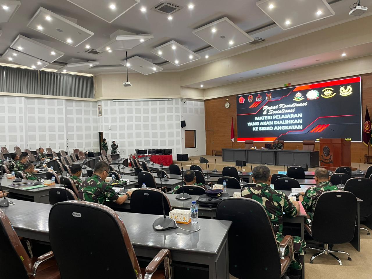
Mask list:
[[[132,192],[131,212],[163,215],[163,206],[160,201],[161,196],[164,200],[165,215],[169,215],[169,211],[171,211],[172,208],[168,197],[160,190],[154,188],[140,188]]]

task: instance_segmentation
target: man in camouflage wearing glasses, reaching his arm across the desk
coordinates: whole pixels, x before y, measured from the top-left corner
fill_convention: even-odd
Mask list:
[[[106,199],[117,204],[122,204],[132,193],[125,193],[123,196],[118,196],[112,185],[105,182],[109,175],[109,165],[99,161],[94,166],[94,172],[91,177],[81,182],[78,192],[79,201],[96,202],[103,204]]]

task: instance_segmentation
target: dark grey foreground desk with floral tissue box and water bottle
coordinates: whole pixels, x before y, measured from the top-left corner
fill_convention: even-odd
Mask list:
[[[7,215],[19,237],[49,242],[48,219],[52,205],[13,200],[14,205],[1,208]],[[231,221],[199,219],[198,232],[180,230],[155,231],[152,227],[159,215],[117,212],[125,224],[135,253],[153,258],[161,249],[171,251],[172,262],[186,267],[203,265],[209,279],[228,279],[228,230]],[[186,230],[192,225],[179,224]]]

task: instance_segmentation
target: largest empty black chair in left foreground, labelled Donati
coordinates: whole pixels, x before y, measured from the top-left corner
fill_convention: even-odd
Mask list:
[[[93,244],[92,241],[77,244],[76,238],[81,235],[94,235]],[[145,270],[140,268],[125,225],[105,205],[82,201],[55,204],[49,212],[49,240],[62,278],[118,278],[122,274],[126,279],[169,279],[171,276],[167,249],[160,250]],[[104,245],[96,245],[103,240]],[[84,268],[73,268],[77,259]],[[120,264],[113,259],[119,259]],[[157,271],[163,262],[164,269]]]

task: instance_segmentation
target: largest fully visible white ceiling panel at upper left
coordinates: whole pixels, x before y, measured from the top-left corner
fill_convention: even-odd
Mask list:
[[[43,7],[38,9],[27,26],[73,47],[94,35],[93,32]]]

